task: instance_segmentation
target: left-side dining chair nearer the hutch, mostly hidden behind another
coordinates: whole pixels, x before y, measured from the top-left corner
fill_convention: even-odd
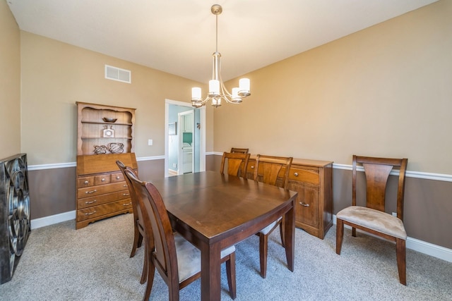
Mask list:
[[[138,204],[138,200],[136,199],[135,192],[133,191],[133,186],[131,185],[131,182],[129,178],[126,177],[126,166],[122,161],[117,160],[116,161],[117,166],[119,167],[119,170],[121,171],[122,175],[124,176],[124,180],[126,180],[127,188],[129,188],[129,194],[130,199],[132,202],[132,209],[133,209],[133,245],[132,245],[132,251],[130,253],[130,257],[135,256],[136,249],[138,247],[141,247],[141,244],[143,243],[143,237],[145,235],[144,231],[144,223],[143,223],[143,216],[141,214],[140,205]],[[131,169],[133,171],[133,169]],[[135,171],[133,171],[135,173]],[[136,173],[135,173],[136,175]],[[138,175],[136,175],[138,176]],[[147,252],[146,244],[144,245],[145,254]],[[146,277],[148,276],[148,257],[144,257],[143,262],[143,271],[141,273],[141,279],[140,283],[143,284],[146,282]]]

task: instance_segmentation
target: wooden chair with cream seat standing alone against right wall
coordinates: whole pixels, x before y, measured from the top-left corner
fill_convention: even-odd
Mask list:
[[[364,168],[366,185],[357,185],[357,165]],[[406,285],[405,241],[407,233],[403,226],[403,200],[405,194],[405,173],[408,159],[376,158],[353,155],[352,165],[352,206],[342,209],[336,214],[336,253],[340,254],[344,236],[344,224],[352,227],[352,236],[356,236],[356,229],[377,235],[381,238],[396,242],[396,257],[399,281]],[[393,168],[398,168],[397,185],[397,216],[386,213],[386,187],[389,174]],[[357,203],[357,190],[366,188],[362,193],[363,199]],[[360,192],[361,190],[359,190]],[[395,191],[394,191],[394,194]]]

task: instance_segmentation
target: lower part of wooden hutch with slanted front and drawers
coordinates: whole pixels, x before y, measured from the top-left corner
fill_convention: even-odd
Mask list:
[[[76,229],[122,213],[133,213],[129,188],[116,164],[138,171],[134,153],[77,156]]]

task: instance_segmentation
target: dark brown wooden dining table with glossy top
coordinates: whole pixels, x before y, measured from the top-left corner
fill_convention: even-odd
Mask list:
[[[201,250],[201,300],[220,300],[220,251],[279,216],[285,216],[287,268],[294,271],[297,192],[214,171],[150,182],[162,195],[174,230]]]

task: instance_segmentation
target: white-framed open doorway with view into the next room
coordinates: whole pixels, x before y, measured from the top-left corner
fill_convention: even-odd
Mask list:
[[[205,124],[205,107],[165,99],[165,177],[206,170]]]

